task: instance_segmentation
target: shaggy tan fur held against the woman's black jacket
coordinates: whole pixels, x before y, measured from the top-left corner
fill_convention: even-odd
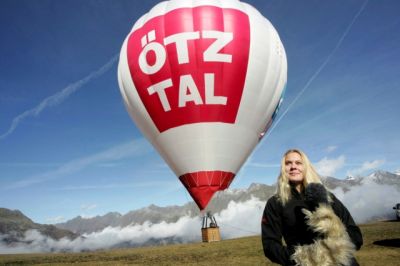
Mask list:
[[[307,225],[322,238],[312,244],[296,246],[292,259],[298,266],[350,265],[355,253],[346,228],[331,206],[319,204],[315,211],[303,209]]]

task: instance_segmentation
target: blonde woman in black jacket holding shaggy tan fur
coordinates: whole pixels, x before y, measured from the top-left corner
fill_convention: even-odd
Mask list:
[[[360,229],[300,150],[282,158],[277,193],[265,206],[261,229],[265,256],[281,265],[358,265]]]

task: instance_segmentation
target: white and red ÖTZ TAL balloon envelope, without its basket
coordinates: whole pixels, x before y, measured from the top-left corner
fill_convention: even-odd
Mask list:
[[[238,0],[157,4],[134,24],[118,65],[129,114],[200,210],[268,130],[286,80],[278,33]]]

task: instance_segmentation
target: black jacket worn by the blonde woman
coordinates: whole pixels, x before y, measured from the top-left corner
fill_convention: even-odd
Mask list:
[[[360,229],[346,207],[333,194],[330,194],[330,197],[333,211],[345,225],[356,249],[360,249],[363,244]],[[301,211],[303,208],[310,209],[310,206],[305,202],[304,194],[300,194],[295,188],[292,188],[292,198],[285,206],[282,206],[276,195],[268,200],[262,217],[261,230],[264,253],[271,261],[281,265],[295,265],[290,259],[294,247],[311,244],[319,237],[305,223],[305,215]],[[286,246],[282,244],[282,237]],[[353,265],[358,265],[355,259]]]

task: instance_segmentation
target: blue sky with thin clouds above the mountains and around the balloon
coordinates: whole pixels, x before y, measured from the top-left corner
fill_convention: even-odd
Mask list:
[[[53,223],[191,200],[118,89],[122,42],[157,2],[0,2],[0,207]],[[292,147],[337,178],[399,170],[400,2],[248,3],[280,34],[288,84],[231,188],[274,183]]]

